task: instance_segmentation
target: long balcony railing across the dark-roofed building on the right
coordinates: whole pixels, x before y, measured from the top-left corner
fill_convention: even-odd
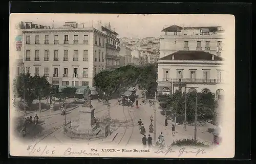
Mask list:
[[[162,82],[173,82],[173,83],[209,83],[209,84],[217,84],[223,83],[223,79],[203,79],[203,78],[163,78]]]

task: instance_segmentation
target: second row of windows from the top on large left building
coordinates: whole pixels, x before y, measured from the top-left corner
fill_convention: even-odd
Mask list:
[[[59,50],[54,50],[54,57],[53,57],[53,61],[61,61],[59,59]],[[44,61],[49,61],[49,50],[45,50],[44,51],[45,55],[44,55]],[[88,50],[83,50],[83,61],[88,61]],[[95,50],[94,52],[94,57],[95,57],[95,62],[104,62],[104,52],[101,53],[101,50],[98,50],[98,58],[97,58],[97,51]],[[26,57],[25,60],[26,61],[30,61],[31,59],[31,52],[30,50],[26,50]],[[97,60],[98,59],[98,60]],[[102,59],[102,60],[101,60]],[[35,50],[35,61],[40,61],[40,57],[39,57],[39,50]],[[68,50],[64,50],[63,51],[63,61],[69,61],[69,51]],[[73,61],[78,61],[78,50],[74,50],[73,51]]]

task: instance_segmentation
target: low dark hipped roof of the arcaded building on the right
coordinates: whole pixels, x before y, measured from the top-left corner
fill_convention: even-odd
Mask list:
[[[222,61],[221,57],[218,57],[214,54],[205,51],[184,51],[180,50],[169,54],[159,60],[172,60],[174,56],[174,60],[206,60],[212,61],[212,56],[214,56],[214,61]]]

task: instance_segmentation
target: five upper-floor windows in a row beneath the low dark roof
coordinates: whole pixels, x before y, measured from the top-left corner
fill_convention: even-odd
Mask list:
[[[169,70],[163,69],[163,78],[166,80],[170,80],[169,78]],[[189,70],[189,78],[196,79],[196,70]],[[177,70],[177,78],[183,78],[183,70]],[[210,70],[203,70],[203,79],[210,79]],[[217,70],[217,79],[222,79],[222,71]]]

